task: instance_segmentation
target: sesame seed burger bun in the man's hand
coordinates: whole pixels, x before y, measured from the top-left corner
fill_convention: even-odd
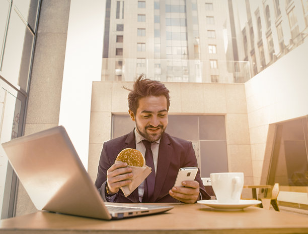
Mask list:
[[[123,149],[117,156],[116,160],[126,162],[130,166],[144,166],[144,157],[140,151],[136,149]]]

